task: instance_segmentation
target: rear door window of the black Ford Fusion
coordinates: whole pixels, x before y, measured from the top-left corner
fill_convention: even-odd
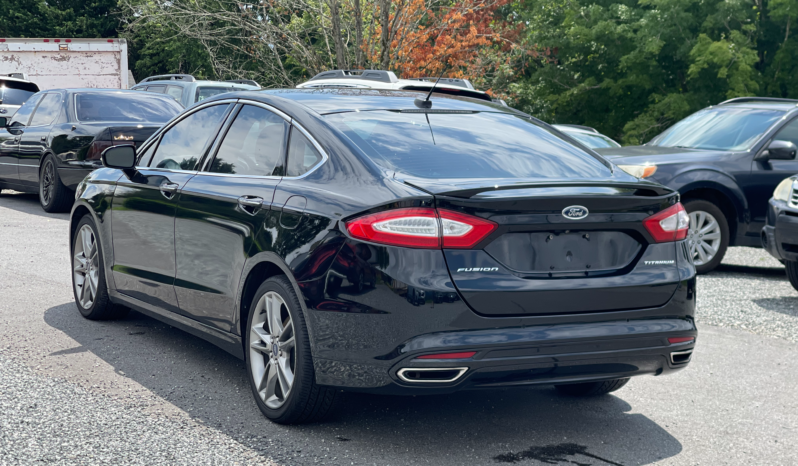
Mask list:
[[[280,176],[288,123],[274,113],[244,105],[216,152],[210,171],[233,175]]]

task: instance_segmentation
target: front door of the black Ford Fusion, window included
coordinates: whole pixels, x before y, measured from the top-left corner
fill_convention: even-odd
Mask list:
[[[174,291],[175,211],[229,102],[200,107],[143,148],[134,173],[117,181],[112,204],[113,278],[120,293],[179,312]]]

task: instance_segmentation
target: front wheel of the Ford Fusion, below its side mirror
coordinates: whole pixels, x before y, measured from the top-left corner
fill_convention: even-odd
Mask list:
[[[108,297],[100,237],[91,215],[85,215],[72,242],[72,291],[80,314],[91,320],[121,319],[128,308]]]

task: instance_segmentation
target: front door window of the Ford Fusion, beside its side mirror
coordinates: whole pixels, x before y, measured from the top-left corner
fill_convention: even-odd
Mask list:
[[[229,104],[192,113],[161,136],[149,166],[168,170],[194,170],[208,140],[216,134]]]

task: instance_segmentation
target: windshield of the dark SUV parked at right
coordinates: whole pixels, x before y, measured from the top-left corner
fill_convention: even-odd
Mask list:
[[[781,110],[742,107],[708,108],[676,123],[648,145],[748,150],[784,113]]]

